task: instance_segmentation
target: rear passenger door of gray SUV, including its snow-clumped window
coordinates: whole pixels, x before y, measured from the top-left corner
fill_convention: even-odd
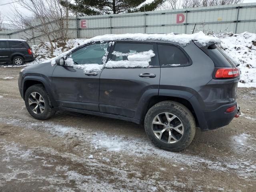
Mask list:
[[[146,66],[143,53],[150,50],[155,56],[147,60]],[[100,112],[136,118],[147,97],[158,95],[157,46],[150,42],[115,42],[108,58],[100,75]]]

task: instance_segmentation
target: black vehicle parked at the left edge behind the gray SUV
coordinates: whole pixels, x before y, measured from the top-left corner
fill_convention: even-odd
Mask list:
[[[0,63],[23,65],[33,60],[32,50],[25,40],[0,39]]]

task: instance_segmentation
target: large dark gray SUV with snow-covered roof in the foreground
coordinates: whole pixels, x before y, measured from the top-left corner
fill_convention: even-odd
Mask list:
[[[90,42],[62,56],[20,72],[36,119],[68,110],[127,120],[144,124],[156,146],[178,151],[196,127],[220,128],[237,114],[239,70],[213,42]]]

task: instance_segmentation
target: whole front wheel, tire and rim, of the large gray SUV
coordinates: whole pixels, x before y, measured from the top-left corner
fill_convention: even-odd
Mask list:
[[[36,119],[45,120],[54,115],[48,94],[41,84],[29,87],[25,93],[25,104],[28,112]]]

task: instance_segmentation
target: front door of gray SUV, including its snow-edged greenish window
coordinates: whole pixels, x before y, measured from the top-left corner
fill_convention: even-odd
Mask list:
[[[89,44],[68,55],[64,66],[56,66],[52,92],[60,107],[99,111],[100,68],[108,49],[108,43]]]

